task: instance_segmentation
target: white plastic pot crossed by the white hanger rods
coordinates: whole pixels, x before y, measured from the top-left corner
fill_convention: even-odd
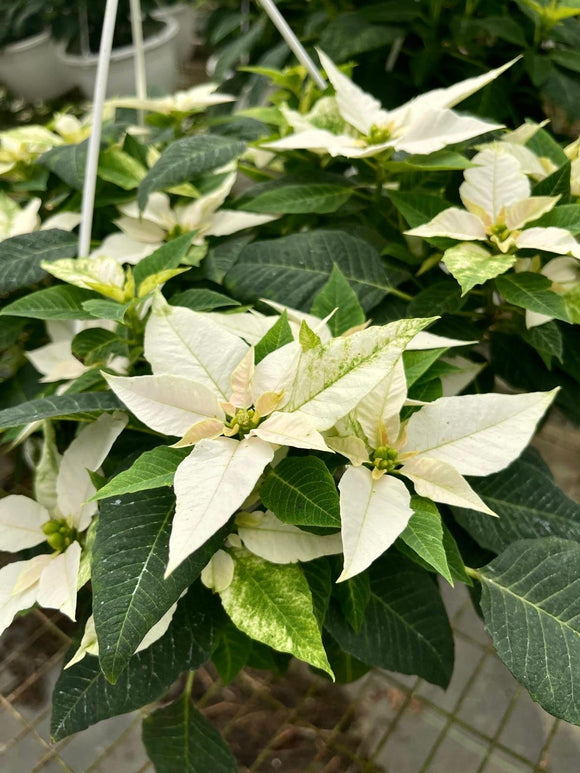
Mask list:
[[[147,90],[170,94],[177,86],[177,33],[174,19],[166,19],[165,26],[144,41]],[[69,54],[64,46],[57,49],[61,67],[89,99],[93,96],[97,76],[98,54]],[[107,97],[135,94],[135,65],[133,46],[113,49],[109,63]]]

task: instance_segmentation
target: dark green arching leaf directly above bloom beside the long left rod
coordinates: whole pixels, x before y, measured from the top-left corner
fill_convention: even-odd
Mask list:
[[[205,134],[171,143],[139,184],[137,201],[145,209],[149,194],[165,190],[224,166],[240,156],[245,144],[230,137]]]

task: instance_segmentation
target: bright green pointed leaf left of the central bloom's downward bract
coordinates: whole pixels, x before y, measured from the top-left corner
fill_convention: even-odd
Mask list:
[[[99,489],[91,501],[172,486],[175,470],[190,453],[191,448],[171,446],[157,446],[145,451],[128,470],[115,475]]]

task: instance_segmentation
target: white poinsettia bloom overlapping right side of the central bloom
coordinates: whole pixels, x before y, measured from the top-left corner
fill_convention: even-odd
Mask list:
[[[556,391],[442,397],[401,424],[407,388],[399,361],[326,437],[353,465],[339,483],[339,579],[364,571],[406,528],[411,496],[399,476],[420,496],[494,515],[464,475],[490,475],[516,459]]]

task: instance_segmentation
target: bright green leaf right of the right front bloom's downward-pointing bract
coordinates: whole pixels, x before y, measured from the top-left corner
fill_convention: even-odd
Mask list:
[[[443,524],[437,506],[430,499],[413,496],[411,507],[413,515],[400,539],[453,585],[443,545]]]

